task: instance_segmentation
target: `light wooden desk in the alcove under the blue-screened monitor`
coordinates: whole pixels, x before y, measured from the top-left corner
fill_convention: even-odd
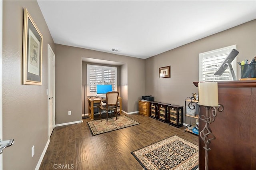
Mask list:
[[[122,114],[122,97],[118,97],[119,100],[119,111],[117,113],[119,115]],[[89,99],[88,98],[88,115],[91,118],[91,120],[94,120],[94,108],[99,108],[100,107],[100,98],[94,98],[94,99]]]

